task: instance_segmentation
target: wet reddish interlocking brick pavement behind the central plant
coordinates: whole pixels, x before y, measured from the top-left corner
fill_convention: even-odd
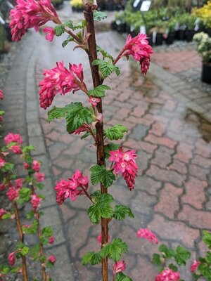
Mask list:
[[[85,74],[89,74],[89,65],[82,51],[72,52],[68,47],[61,49],[59,45],[62,38],[57,38],[50,45],[44,40],[44,35],[32,34],[32,37],[39,44],[30,63],[27,60],[23,63],[27,73],[23,72],[21,81],[25,82],[22,84],[26,84],[30,97],[25,99],[28,106],[26,118],[29,119],[23,117],[22,126],[27,127],[28,133],[31,132],[32,143],[38,144],[38,156],[46,162],[46,173],[49,173],[46,190],[49,196],[44,209],[46,222],[53,223],[56,231],[54,250],[59,256],[56,280],[65,275],[68,280],[101,280],[97,266],[84,268],[80,263],[86,251],[98,250],[96,237],[100,228],[89,223],[86,214],[89,202],[79,198],[77,202],[65,202],[57,209],[51,188],[52,181],[70,177],[75,169],[82,169],[84,174],[89,174],[89,166],[96,162],[95,150],[88,149],[91,140],[81,141],[78,136],[68,135],[64,122],[58,120],[48,124],[44,110],[39,111],[40,127],[38,107],[34,107],[34,103],[37,103],[37,89],[32,79],[35,70],[38,82],[42,77],[42,69],[53,67],[56,60],[68,58],[71,63],[82,61]],[[124,44],[113,32],[99,33],[97,37],[101,41],[100,45],[113,55]],[[33,40],[31,44],[34,44]],[[30,45],[30,40],[27,45]],[[40,53],[44,55],[39,55]],[[18,58],[19,63],[21,59]],[[140,280],[141,274],[141,280],[151,281],[157,271],[151,265],[150,257],[158,246],[136,240],[138,228],[151,228],[160,242],[174,247],[180,243],[188,247],[193,256],[204,251],[200,233],[204,228],[211,229],[211,125],[207,121],[209,113],[183,95],[185,88],[186,91],[191,91],[191,86],[184,85],[179,77],[172,76],[155,63],[146,77],[141,76],[134,64],[126,60],[122,60],[119,66],[122,70],[120,79],[113,77],[111,81],[106,81],[113,91],[108,92],[105,98],[105,124],[108,126],[121,122],[128,127],[129,134],[122,139],[122,145],[137,150],[139,174],[133,191],[130,192],[125,187],[122,178],[118,178],[115,186],[110,189],[117,202],[129,204],[135,214],[134,220],[126,219],[124,224],[116,221],[115,224],[110,223],[110,235],[118,235],[129,244],[129,254],[124,255],[126,273],[134,280]],[[10,85],[9,81],[5,89],[11,86],[9,91],[13,91],[15,85]],[[86,82],[91,84],[90,80]],[[21,90],[26,93],[25,89]],[[203,93],[195,90],[194,93]],[[29,98],[32,99],[31,103]],[[81,93],[56,96],[54,105],[62,106],[78,100],[85,102]],[[31,120],[30,112],[34,115]],[[11,127],[18,124],[14,119],[12,122]],[[189,266],[190,263],[182,270],[182,277],[186,280],[191,280]]]

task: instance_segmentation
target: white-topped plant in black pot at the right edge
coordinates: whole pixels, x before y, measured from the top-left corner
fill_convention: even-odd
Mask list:
[[[204,32],[196,33],[193,40],[197,43],[196,51],[203,59],[201,80],[211,84],[211,38]]]

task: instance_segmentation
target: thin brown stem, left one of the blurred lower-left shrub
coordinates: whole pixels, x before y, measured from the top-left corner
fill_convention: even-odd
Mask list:
[[[13,186],[13,184],[11,183],[11,178],[8,172],[6,172],[6,181],[9,187]],[[22,230],[22,226],[20,223],[20,216],[19,216],[19,212],[18,212],[18,206],[17,203],[13,201],[13,209],[15,211],[15,222],[16,222],[16,226],[18,228],[18,235],[20,238],[20,241],[24,243],[24,235],[23,235],[23,230]],[[21,256],[22,257],[22,265],[23,265],[23,281],[27,281],[28,277],[27,277],[27,263],[26,263],[26,258],[25,256]]]

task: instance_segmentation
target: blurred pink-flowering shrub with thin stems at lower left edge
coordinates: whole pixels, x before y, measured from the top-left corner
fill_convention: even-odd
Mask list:
[[[0,90],[1,99],[4,98],[3,91]],[[2,113],[3,114],[3,113]],[[0,209],[0,221],[14,219],[19,235],[19,242],[15,249],[8,254],[8,265],[0,264],[0,280],[4,275],[22,273],[23,280],[27,281],[27,256],[35,261],[39,259],[41,263],[41,275],[43,281],[50,281],[51,277],[46,272],[46,268],[53,266],[56,261],[55,256],[47,257],[44,254],[44,245],[53,244],[54,237],[50,226],[41,228],[39,218],[43,216],[40,211],[41,202],[44,195],[39,190],[44,188],[45,174],[41,173],[41,163],[31,156],[32,146],[23,146],[23,139],[18,133],[8,133],[4,137],[4,146],[0,148],[0,191],[4,192],[12,207]],[[9,161],[11,155],[17,155],[22,160],[23,171],[27,176],[20,178],[15,174],[15,165]],[[24,204],[30,208],[23,221],[19,211],[19,205]],[[28,247],[25,242],[26,235],[37,235],[39,243]],[[22,260],[22,264],[18,262]],[[35,279],[33,279],[35,280]]]

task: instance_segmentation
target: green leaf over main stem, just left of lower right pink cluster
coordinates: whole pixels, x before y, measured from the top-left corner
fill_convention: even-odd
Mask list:
[[[91,171],[91,183],[93,185],[101,182],[105,188],[108,188],[115,181],[115,174],[113,174],[113,171],[107,170],[105,166],[95,165],[89,171]]]

